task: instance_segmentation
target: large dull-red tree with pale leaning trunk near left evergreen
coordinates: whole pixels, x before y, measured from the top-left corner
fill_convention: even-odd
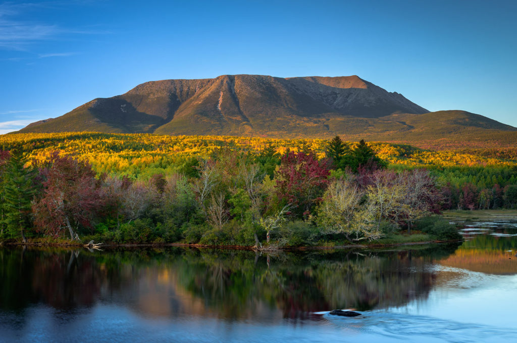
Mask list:
[[[58,236],[68,230],[71,239],[81,228],[92,228],[92,221],[104,206],[101,181],[87,162],[71,156],[51,157],[50,167],[42,170],[43,192],[33,205],[36,230]]]

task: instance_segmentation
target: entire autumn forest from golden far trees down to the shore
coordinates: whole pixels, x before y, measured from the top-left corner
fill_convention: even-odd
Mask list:
[[[509,149],[98,133],[3,135],[0,144],[4,241],[266,249],[402,232],[453,240],[440,210],[517,207]]]

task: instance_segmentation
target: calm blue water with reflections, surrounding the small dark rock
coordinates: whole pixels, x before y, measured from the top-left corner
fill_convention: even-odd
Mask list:
[[[262,255],[4,248],[0,341],[517,342],[517,222],[464,235],[461,247]]]

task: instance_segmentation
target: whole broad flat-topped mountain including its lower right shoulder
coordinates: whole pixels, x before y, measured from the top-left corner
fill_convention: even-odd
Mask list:
[[[517,128],[465,111],[429,112],[360,77],[222,75],[151,81],[92,100],[24,132],[361,137],[414,141]]]

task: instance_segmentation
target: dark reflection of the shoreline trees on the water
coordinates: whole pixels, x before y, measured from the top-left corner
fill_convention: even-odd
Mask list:
[[[0,314],[34,304],[73,311],[110,303],[151,317],[275,321],[334,308],[425,299],[432,268],[457,245],[400,251],[258,254],[180,248],[0,249]]]

